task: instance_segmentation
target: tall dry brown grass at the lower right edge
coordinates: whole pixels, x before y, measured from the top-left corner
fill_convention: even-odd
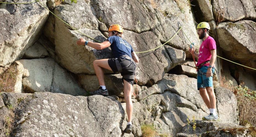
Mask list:
[[[256,128],[256,91],[243,86],[243,83],[241,85],[233,87],[233,92],[237,98],[240,124]]]

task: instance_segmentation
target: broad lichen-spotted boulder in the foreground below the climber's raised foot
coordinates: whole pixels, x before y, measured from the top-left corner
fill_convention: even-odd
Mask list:
[[[4,97],[18,100],[13,94]],[[102,102],[105,105],[100,105]],[[15,136],[120,136],[120,127],[125,126],[120,103],[100,95],[26,94],[17,104],[15,114]]]

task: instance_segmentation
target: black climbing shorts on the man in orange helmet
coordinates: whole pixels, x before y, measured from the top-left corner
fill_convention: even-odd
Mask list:
[[[134,75],[134,72],[135,72],[135,64],[132,64],[131,61],[125,59],[123,61],[121,61],[121,59],[118,59],[118,61],[120,62],[121,64],[121,67],[122,67],[122,72],[121,72],[121,75]],[[129,65],[130,64],[130,65]],[[113,70],[113,72],[118,72],[117,70],[117,67],[116,67],[116,60],[114,58],[112,59],[108,59],[108,65],[110,66],[110,68]],[[127,66],[128,65],[128,66]],[[127,67],[125,67],[127,66]],[[124,67],[124,68],[123,68]],[[132,79],[127,79],[127,78],[122,78],[122,81],[123,79],[127,82],[129,82],[130,84],[134,84],[134,80]],[[124,82],[124,81],[123,81]]]

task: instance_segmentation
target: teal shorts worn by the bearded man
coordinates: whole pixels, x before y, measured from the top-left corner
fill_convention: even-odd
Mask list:
[[[205,73],[205,75],[203,75],[202,73],[200,73],[200,71],[197,71],[197,89],[199,90],[199,88],[205,88],[205,87],[212,87],[213,86],[213,77],[210,76],[208,78],[206,78],[206,72],[207,72],[208,66],[202,66],[200,68],[200,71],[202,73]],[[212,73],[214,73],[215,69],[212,68]]]

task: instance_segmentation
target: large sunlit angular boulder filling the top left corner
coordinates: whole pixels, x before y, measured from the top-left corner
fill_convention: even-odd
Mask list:
[[[5,2],[13,3],[9,0]],[[41,3],[45,4],[46,1]],[[39,3],[17,5],[1,3],[0,13],[0,67],[8,67],[12,62],[20,59],[38,39],[49,12]]]

